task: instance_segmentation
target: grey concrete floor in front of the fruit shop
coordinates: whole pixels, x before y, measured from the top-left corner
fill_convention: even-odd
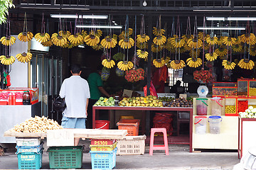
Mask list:
[[[89,141],[80,141],[85,145],[82,158],[82,169],[91,169]],[[3,145],[2,145],[3,146]],[[4,156],[0,157],[0,169],[18,169],[18,158],[15,144],[4,145],[8,147]],[[43,152],[43,166],[41,169],[50,169],[46,144]],[[220,152],[217,150],[203,150],[203,152],[189,152],[188,145],[169,145],[169,156],[164,151],[154,151],[149,156],[149,146],[145,148],[144,155],[117,156],[114,169],[233,169],[240,162],[237,152]]]

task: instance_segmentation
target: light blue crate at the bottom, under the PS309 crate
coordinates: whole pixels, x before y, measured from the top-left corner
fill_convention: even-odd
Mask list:
[[[90,151],[92,169],[113,169],[116,166],[117,147],[112,151]]]

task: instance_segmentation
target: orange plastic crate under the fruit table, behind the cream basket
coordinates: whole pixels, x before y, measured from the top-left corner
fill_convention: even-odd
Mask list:
[[[139,135],[139,119],[121,119],[117,123],[119,130],[127,130],[127,136]]]

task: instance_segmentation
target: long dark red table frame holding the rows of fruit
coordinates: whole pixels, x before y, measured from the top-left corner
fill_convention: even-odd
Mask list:
[[[192,132],[193,132],[193,108],[181,107],[126,107],[126,106],[92,106],[92,129],[95,129],[96,111],[112,110],[112,111],[188,111],[190,113],[189,122],[189,149],[192,152]],[[149,134],[149,115],[146,114],[146,132]]]

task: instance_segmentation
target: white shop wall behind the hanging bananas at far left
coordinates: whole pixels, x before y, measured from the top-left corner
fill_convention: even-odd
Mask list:
[[[11,45],[11,56],[16,57],[18,53],[28,51],[28,42],[18,40],[18,35],[12,35],[16,38],[14,45]],[[11,86],[10,87],[28,87],[28,63],[18,62],[16,59],[11,64]]]

